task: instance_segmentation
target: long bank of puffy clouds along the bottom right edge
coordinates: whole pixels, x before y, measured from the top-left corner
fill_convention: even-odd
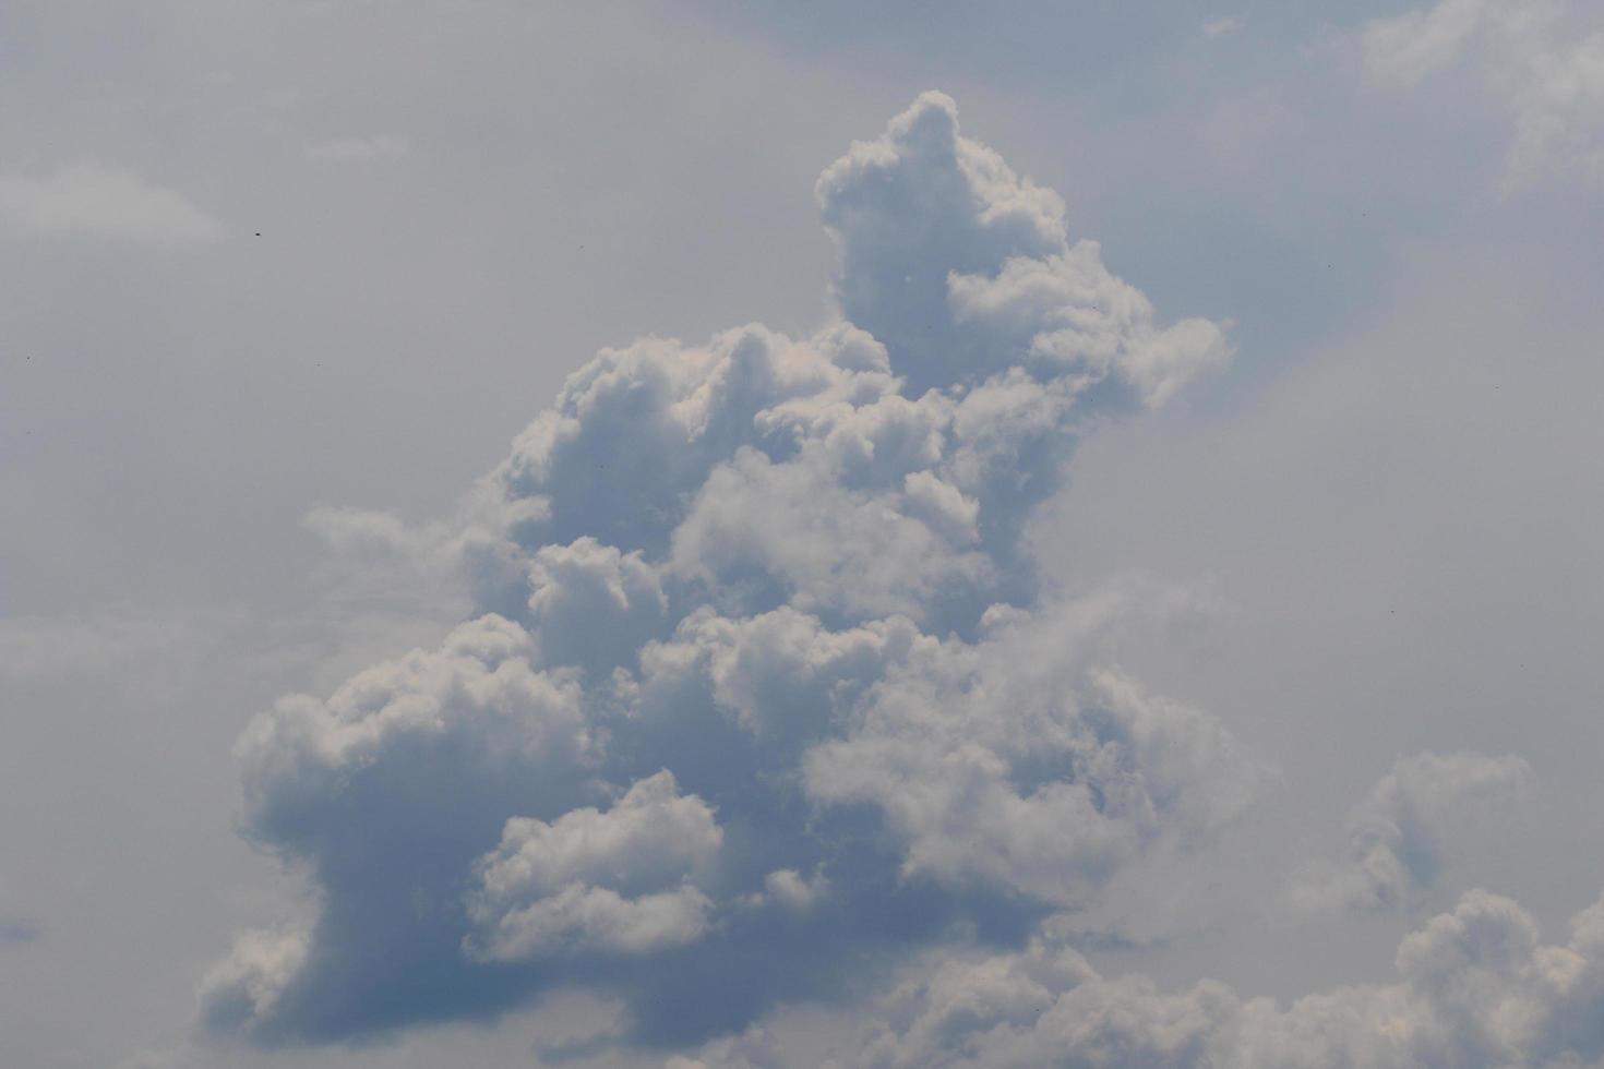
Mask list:
[[[824,1058],[770,1027],[707,1045],[674,1069],[1161,1066],[1165,1069],[1448,1069],[1593,1064],[1604,1055],[1604,901],[1543,944],[1516,902],[1471,891],[1399,946],[1397,981],[1282,1006],[1205,981],[1163,992],[1100,976],[1044,928],[1011,954],[937,952]]]

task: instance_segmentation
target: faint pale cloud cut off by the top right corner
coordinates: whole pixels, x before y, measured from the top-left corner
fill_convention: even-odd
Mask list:
[[[1412,87],[1479,46],[1514,119],[1511,180],[1549,165],[1604,178],[1604,32],[1548,0],[1439,0],[1363,29],[1367,74]]]

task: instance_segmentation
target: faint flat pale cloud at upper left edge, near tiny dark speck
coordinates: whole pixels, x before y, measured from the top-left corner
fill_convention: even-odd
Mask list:
[[[0,176],[0,221],[37,234],[80,234],[156,245],[207,242],[221,226],[181,194],[107,167],[64,167],[48,178]]]

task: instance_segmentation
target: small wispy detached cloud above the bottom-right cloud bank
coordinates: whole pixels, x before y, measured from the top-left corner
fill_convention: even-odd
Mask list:
[[[1532,768],[1517,756],[1416,753],[1399,758],[1347,814],[1347,859],[1315,865],[1291,888],[1309,914],[1402,909],[1432,886],[1444,843],[1519,800]]]

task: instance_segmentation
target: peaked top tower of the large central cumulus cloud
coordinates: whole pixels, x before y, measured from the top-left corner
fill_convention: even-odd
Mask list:
[[[1068,242],[1059,196],[954,119],[951,99],[927,93],[818,180],[842,313],[906,354],[898,372],[914,391],[1027,365],[1158,402],[1225,359],[1219,325],[1160,327],[1096,242]]]

